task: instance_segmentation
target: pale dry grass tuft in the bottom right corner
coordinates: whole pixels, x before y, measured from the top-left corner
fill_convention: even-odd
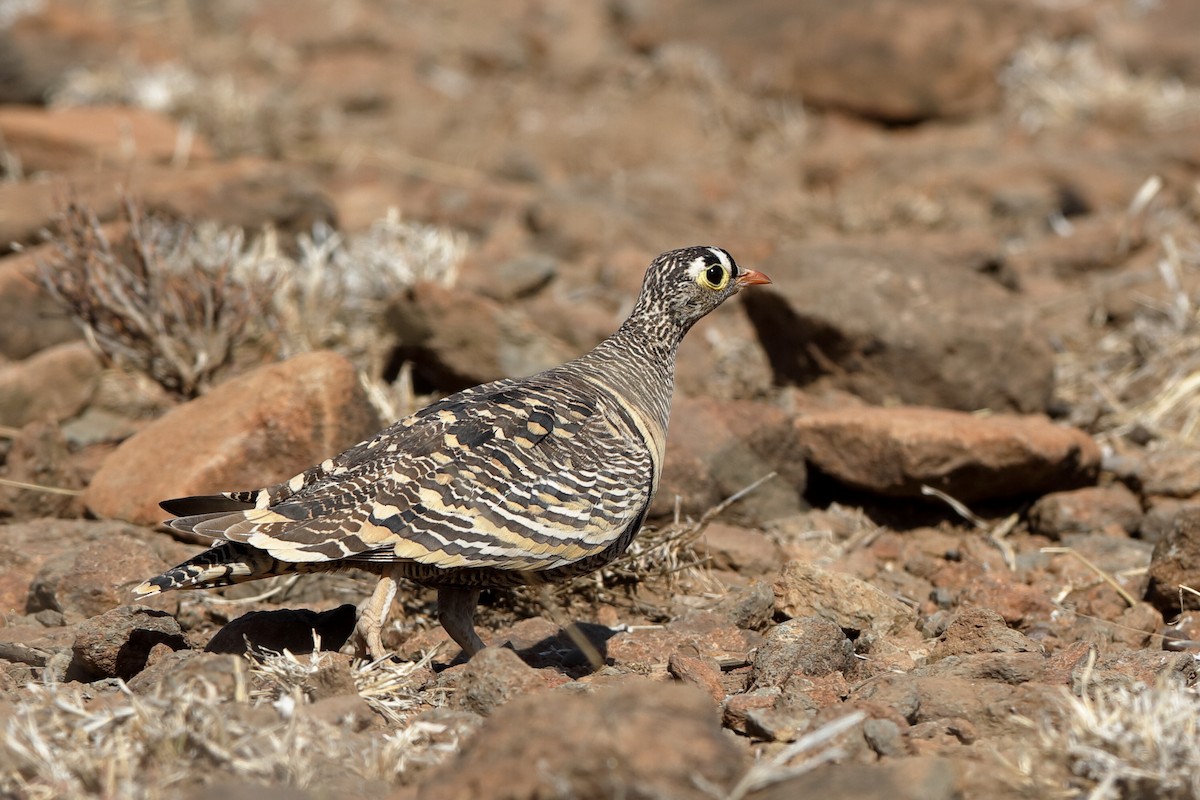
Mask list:
[[[1096,687],[1070,696],[1040,728],[1038,750],[1066,754],[1080,778],[1075,796],[1200,798],[1200,693],[1174,682]]]

